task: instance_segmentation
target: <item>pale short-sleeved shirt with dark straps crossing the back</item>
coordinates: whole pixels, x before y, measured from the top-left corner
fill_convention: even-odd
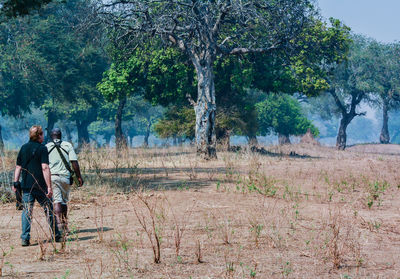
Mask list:
[[[55,140],[59,141],[59,140]],[[54,142],[49,142],[46,144],[47,150],[49,153],[49,166],[51,174],[63,175],[63,176],[70,176],[68,169],[65,167],[63,160],[60,157],[60,154],[55,147]],[[61,152],[64,155],[65,160],[69,164],[71,161],[78,161],[78,157],[76,156],[74,147],[71,143],[67,141],[61,142]],[[71,166],[71,165],[70,165]],[[72,167],[71,167],[72,168]]]

